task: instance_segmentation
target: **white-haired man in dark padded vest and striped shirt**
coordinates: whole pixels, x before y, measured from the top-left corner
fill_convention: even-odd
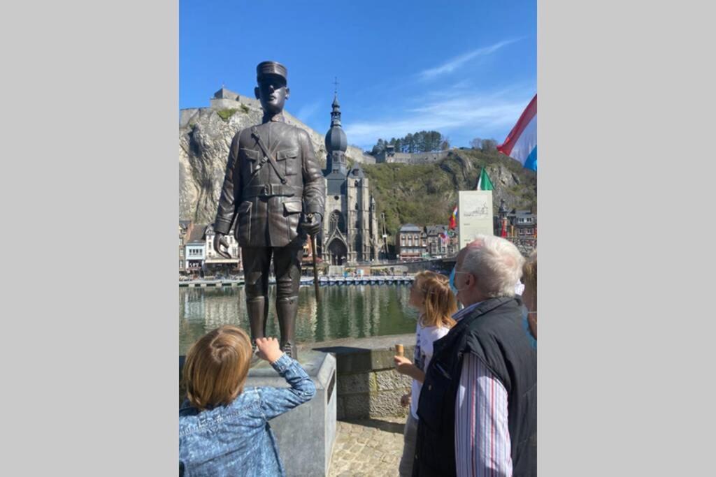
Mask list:
[[[537,353],[515,297],[523,263],[515,245],[491,235],[458,253],[465,308],[434,344],[413,476],[537,475]]]

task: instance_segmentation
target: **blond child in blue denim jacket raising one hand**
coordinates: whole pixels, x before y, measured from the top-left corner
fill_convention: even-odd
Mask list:
[[[179,410],[180,476],[285,475],[268,421],[313,398],[316,386],[276,338],[258,338],[256,347],[290,388],[243,389],[251,340],[236,326],[207,333],[189,350],[187,400]]]

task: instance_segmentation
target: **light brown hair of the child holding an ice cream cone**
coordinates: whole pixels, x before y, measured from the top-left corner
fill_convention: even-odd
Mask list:
[[[453,315],[458,311],[458,300],[453,290],[450,290],[450,279],[426,270],[415,275],[415,286],[422,295],[425,308],[420,325],[453,328]]]

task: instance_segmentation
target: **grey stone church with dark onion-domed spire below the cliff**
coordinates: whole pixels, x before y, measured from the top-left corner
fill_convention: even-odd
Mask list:
[[[319,254],[331,265],[377,260],[380,246],[375,200],[360,164],[348,167],[348,141],[341,126],[337,92],[332,107],[331,129],[326,133],[326,209],[317,245]]]

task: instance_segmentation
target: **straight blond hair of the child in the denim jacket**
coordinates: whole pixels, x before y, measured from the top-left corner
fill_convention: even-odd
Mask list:
[[[205,410],[229,404],[243,391],[251,361],[246,331],[224,325],[194,343],[186,355],[183,381],[195,408]]]

